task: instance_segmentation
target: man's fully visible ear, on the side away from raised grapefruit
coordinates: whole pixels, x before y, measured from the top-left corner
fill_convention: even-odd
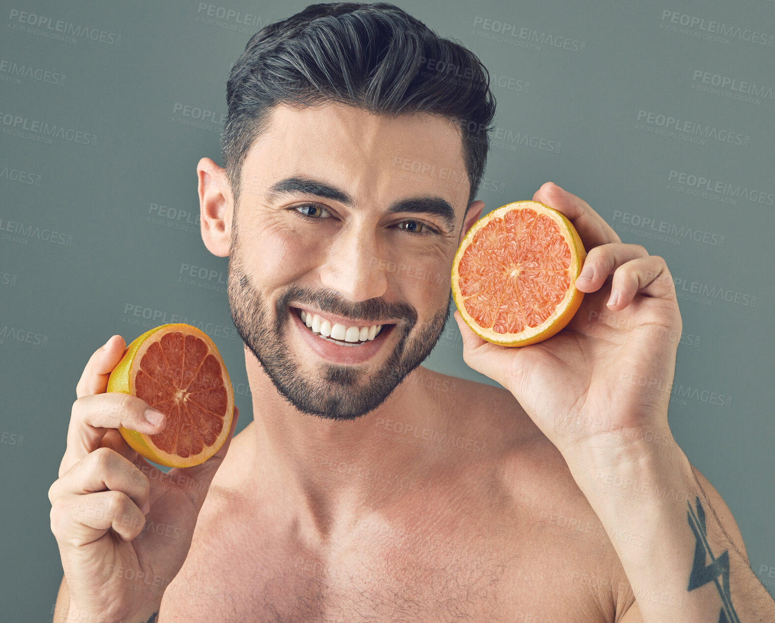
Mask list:
[[[232,189],[222,169],[209,158],[202,158],[196,166],[199,184],[199,219],[202,224],[202,240],[212,255],[225,258],[229,255],[229,238],[232,231]]]

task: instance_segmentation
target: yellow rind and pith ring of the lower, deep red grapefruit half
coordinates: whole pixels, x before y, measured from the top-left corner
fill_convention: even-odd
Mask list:
[[[119,426],[119,433],[126,440],[133,450],[136,450],[141,456],[146,457],[148,460],[152,460],[154,463],[160,465],[166,465],[167,467],[193,467],[198,464],[202,464],[205,460],[212,457],[213,454],[218,452],[222,445],[226,443],[226,437],[229,436],[229,430],[232,426],[232,416],[234,415],[234,392],[232,390],[232,382],[229,378],[229,373],[226,371],[226,365],[224,365],[218,348],[215,347],[213,341],[202,330],[197,327],[192,327],[190,324],[184,323],[172,323],[162,324],[159,327],[147,330],[144,334],[137,337],[132,344],[126,347],[124,354],[119,361],[118,365],[113,368],[113,371],[108,378],[108,392],[121,392],[123,394],[135,395],[133,391],[134,378],[137,375],[139,366],[135,366],[135,361],[140,363],[143,358],[143,354],[148,350],[151,344],[161,339],[162,335],[158,335],[156,339],[149,340],[153,334],[162,331],[162,335],[167,333],[173,333],[174,331],[182,331],[184,334],[195,334],[200,337],[205,344],[208,345],[208,353],[215,354],[218,360],[221,362],[221,368],[223,371],[223,382],[226,385],[226,416],[223,418],[223,428],[215,440],[212,446],[205,446],[201,453],[191,455],[191,457],[180,457],[177,454],[168,454],[164,450],[156,447],[153,442],[150,441],[150,435],[146,433],[140,433],[136,430],[130,430]]]

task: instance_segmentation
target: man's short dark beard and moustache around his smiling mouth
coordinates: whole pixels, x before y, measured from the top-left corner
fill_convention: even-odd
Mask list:
[[[446,306],[411,341],[408,336],[417,323],[414,307],[379,299],[351,304],[324,289],[310,291],[288,286],[274,305],[272,322],[262,296],[244,271],[237,243],[236,220],[233,223],[227,291],[234,326],[261,362],[277,392],[298,411],[336,420],[366,415],[380,406],[406,375],[425,361],[439,341],[453,305],[451,289]],[[321,362],[318,366],[319,378],[308,380],[301,375],[283,339],[290,323],[288,304],[291,302],[344,317],[375,322],[381,318],[394,318],[404,319],[405,322],[399,321],[393,327],[393,331],[398,332],[398,343],[381,368],[370,370],[368,362],[360,366]]]

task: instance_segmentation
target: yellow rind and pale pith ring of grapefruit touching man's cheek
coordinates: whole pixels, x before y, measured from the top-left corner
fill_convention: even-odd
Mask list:
[[[535,210],[539,214],[546,214],[553,218],[556,224],[560,228],[560,232],[563,234],[563,238],[570,246],[570,267],[571,267],[571,279],[570,287],[565,295],[565,298],[560,301],[556,306],[553,314],[549,316],[538,327],[527,327],[525,330],[520,331],[518,334],[501,334],[487,327],[480,327],[477,320],[467,312],[466,307],[463,305],[465,300],[460,293],[460,275],[458,273],[458,265],[460,265],[460,259],[463,257],[463,253],[474,240],[474,236],[481,228],[487,225],[494,218],[503,218],[509,211],[517,209],[530,208]],[[460,246],[457,248],[455,259],[452,263],[452,293],[455,299],[455,304],[463,321],[470,327],[475,334],[481,337],[483,340],[491,342],[492,344],[499,344],[501,346],[529,346],[530,344],[536,344],[544,340],[549,339],[558,331],[562,330],[570,322],[570,319],[574,317],[574,314],[578,311],[581,301],[584,300],[584,293],[576,289],[576,279],[581,272],[581,266],[584,265],[584,259],[587,257],[587,252],[584,250],[584,245],[581,242],[576,228],[568,221],[564,214],[556,211],[554,208],[541,204],[538,201],[514,201],[511,204],[501,206],[496,210],[493,210],[483,217],[481,217],[476,223],[474,223],[470,230],[467,232],[463,241],[460,242]],[[518,336],[518,337],[515,337]]]

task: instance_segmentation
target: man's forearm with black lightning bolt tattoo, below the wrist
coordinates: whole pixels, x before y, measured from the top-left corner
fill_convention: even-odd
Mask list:
[[[672,440],[584,454],[570,471],[611,538],[643,621],[775,621],[775,602]]]

